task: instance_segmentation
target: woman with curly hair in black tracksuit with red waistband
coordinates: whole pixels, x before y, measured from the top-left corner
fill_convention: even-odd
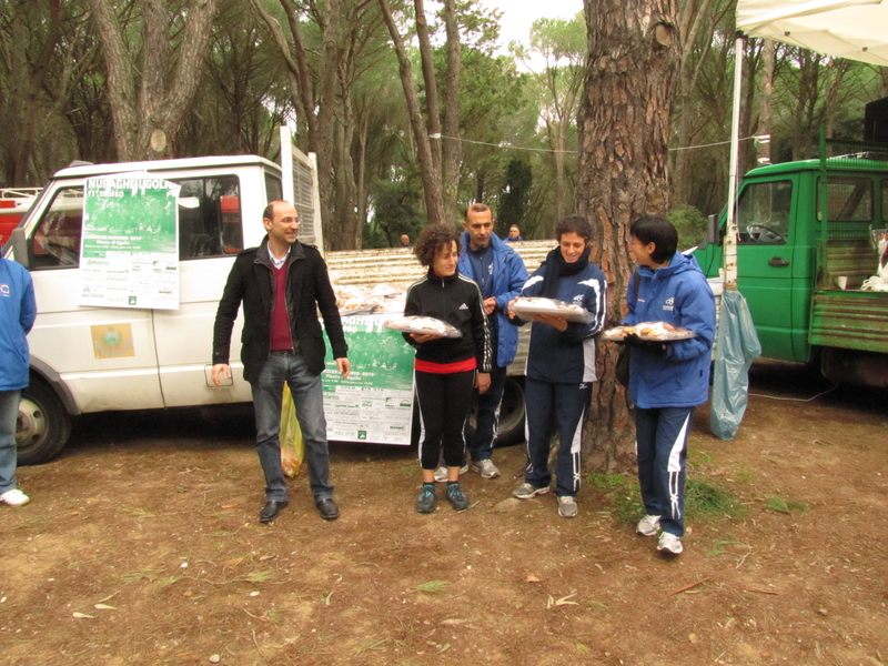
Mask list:
[[[425,278],[407,290],[404,314],[431,316],[454,326],[461,337],[404,333],[416,347],[414,377],[420,401],[422,436],[420,464],[423,487],[416,511],[433,513],[435,470],[444,450],[447,500],[456,511],[468,508],[460,487],[460,465],[465,450],[465,422],[472,408],[472,387],[484,393],[491,385],[491,341],[484,316],[484,299],[473,280],[456,269],[460,234],[436,224],[425,228],[413,251],[428,269]]]

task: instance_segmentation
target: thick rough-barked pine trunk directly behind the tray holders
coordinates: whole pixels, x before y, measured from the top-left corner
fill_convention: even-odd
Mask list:
[[[618,321],[634,266],[629,224],[669,208],[667,172],[678,73],[673,0],[584,0],[588,59],[578,115],[576,208],[593,224],[592,261],[608,280],[608,320]],[[598,377],[585,424],[596,470],[634,464],[634,427],[617,384],[615,345],[598,345]]]

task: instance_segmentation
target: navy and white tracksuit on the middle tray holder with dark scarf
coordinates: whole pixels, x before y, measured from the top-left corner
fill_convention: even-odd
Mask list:
[[[541,265],[522,290],[522,296],[542,295],[548,264]],[[524,481],[534,487],[552,482],[548,468],[549,435],[553,420],[558,427],[558,457],[555,463],[555,494],[575,496],[581,486],[581,443],[583,416],[589,404],[595,374],[594,335],[604,326],[607,280],[594,264],[576,275],[562,275],[554,296],[575,303],[592,314],[589,323],[568,322],[562,333],[554,326],[534,322],[525,370],[527,408],[527,466]]]

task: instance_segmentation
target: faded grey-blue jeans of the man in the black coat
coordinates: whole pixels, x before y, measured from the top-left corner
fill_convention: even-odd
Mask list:
[[[315,502],[329,500],[333,496],[333,486],[330,485],[330,452],[321,375],[311,374],[302,354],[291,351],[270,353],[259,379],[251,384],[256,415],[256,453],[265,474],[265,498],[270,502],[286,500],[280,441],[284,382],[290,385],[296,405],[312,495]]]

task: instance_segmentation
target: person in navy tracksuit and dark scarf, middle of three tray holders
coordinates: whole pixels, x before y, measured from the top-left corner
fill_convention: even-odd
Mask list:
[[[607,304],[607,280],[589,263],[592,226],[578,215],[562,220],[555,229],[558,246],[522,289],[524,297],[547,297],[574,303],[587,310],[588,323],[568,322],[561,316],[535,315],[525,370],[527,405],[527,466],[524,483],[513,495],[528,500],[548,493],[549,435],[553,421],[558,427],[555,463],[555,494],[558,515],[577,514],[581,485],[581,440],[583,416],[589,404],[595,375],[594,335],[602,330]],[[514,316],[514,312],[509,312]],[[513,320],[514,323],[523,323]]]

